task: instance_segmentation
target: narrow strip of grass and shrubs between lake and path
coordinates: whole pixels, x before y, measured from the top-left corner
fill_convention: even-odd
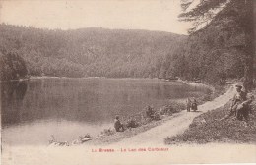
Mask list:
[[[201,83],[187,83],[188,85],[201,86],[205,84]],[[207,101],[211,101],[212,99],[224,94],[224,92],[229,88],[228,85],[225,86],[216,86],[211,92],[203,94],[200,97],[197,97],[198,104],[203,104]],[[85,136],[85,138],[91,138],[91,140],[83,141],[83,136],[80,135],[81,139],[75,139],[72,142],[68,142],[69,144],[86,144],[86,145],[107,145],[111,143],[115,143],[121,141],[125,138],[131,138],[143,132],[146,132],[152,128],[160,126],[169,120],[172,120],[182,113],[179,113],[186,109],[185,102],[173,102],[170,101],[167,105],[162,106],[160,109],[154,109],[159,116],[159,119],[149,119],[146,116],[146,109],[143,109],[138,114],[132,114],[131,116],[120,116],[121,122],[123,124],[127,124],[127,122],[132,118],[138,124],[136,128],[126,129],[124,132],[116,132],[114,127],[105,128],[101,134],[96,137],[91,137],[90,135]],[[114,123],[113,123],[114,125]],[[63,143],[63,142],[62,142]],[[65,143],[66,145],[67,143]],[[58,143],[57,143],[58,145]]]

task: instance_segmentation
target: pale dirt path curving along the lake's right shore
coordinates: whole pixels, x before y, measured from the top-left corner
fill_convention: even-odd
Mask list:
[[[163,144],[164,138],[172,137],[177,134],[183,133],[189,125],[192,123],[193,119],[202,113],[210,110],[220,108],[229,101],[235,89],[231,86],[226,93],[215,98],[213,101],[206,102],[198,106],[198,112],[186,112],[182,111],[179,115],[168,122],[155,127],[149,131],[138,134],[132,138],[123,139],[120,142],[115,143],[116,145],[147,145],[147,144]]]

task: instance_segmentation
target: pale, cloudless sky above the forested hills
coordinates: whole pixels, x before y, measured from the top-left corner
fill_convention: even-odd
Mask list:
[[[0,23],[50,29],[103,27],[187,34],[180,0],[0,0]]]

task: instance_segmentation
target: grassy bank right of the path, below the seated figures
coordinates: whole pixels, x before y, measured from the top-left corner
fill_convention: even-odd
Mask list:
[[[253,91],[256,95],[256,90]],[[252,111],[248,125],[244,121],[226,119],[219,121],[229,111],[230,101],[219,109],[196,117],[183,134],[165,138],[166,144],[181,143],[256,143],[256,101],[251,103]]]

